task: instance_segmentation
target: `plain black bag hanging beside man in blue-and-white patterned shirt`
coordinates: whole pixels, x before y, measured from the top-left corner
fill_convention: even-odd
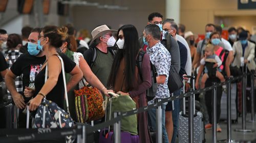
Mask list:
[[[178,89],[180,89],[182,87],[183,87],[183,81],[180,78],[179,73],[173,66],[170,66],[169,78],[168,78],[169,92],[173,93],[174,91],[177,91]]]

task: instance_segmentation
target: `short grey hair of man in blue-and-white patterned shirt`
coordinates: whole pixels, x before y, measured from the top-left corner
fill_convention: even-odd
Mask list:
[[[158,25],[156,24],[148,24],[145,26],[146,35],[151,35],[155,40],[160,40],[161,31]]]

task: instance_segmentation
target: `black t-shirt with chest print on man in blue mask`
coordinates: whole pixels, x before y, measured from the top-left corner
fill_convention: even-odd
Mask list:
[[[34,81],[35,76],[39,73],[41,69],[41,64],[46,61],[46,56],[37,57],[25,53],[19,56],[16,62],[12,65],[11,71],[16,75],[20,76],[23,74],[23,92],[22,95],[25,101],[28,102],[30,98],[24,96],[25,87],[30,87],[35,89]]]

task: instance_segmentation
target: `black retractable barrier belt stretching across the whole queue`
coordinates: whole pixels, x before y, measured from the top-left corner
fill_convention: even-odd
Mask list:
[[[247,75],[250,75],[250,73],[244,73],[241,76],[230,78],[225,82],[217,83],[216,85],[212,85],[204,89],[187,92],[175,97],[164,98],[164,99],[161,99],[161,101],[148,106],[140,107],[134,110],[126,111],[126,112],[121,112],[120,116],[117,116],[116,118],[113,118],[110,121],[97,124],[95,126],[87,126],[85,124],[82,124],[82,125],[77,125],[74,128],[62,128],[62,129],[50,129],[50,128],[1,129],[0,140],[1,142],[28,142],[28,141],[37,141],[37,140],[56,139],[56,138],[65,137],[67,135],[82,135],[83,133],[82,126],[86,126],[86,134],[90,134],[90,133],[93,133],[94,131],[97,131],[105,127],[108,127],[110,125],[118,123],[119,121],[121,121],[122,117],[131,116],[131,115],[141,113],[153,108],[157,108],[158,106],[161,106],[165,102],[182,99],[184,97],[193,96],[194,94],[199,94],[201,92],[213,90],[217,87],[227,84],[228,82],[238,80]]]

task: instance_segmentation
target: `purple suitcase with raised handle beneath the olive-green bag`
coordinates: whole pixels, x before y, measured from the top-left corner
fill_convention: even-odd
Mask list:
[[[113,94],[113,95],[119,96],[117,94]],[[109,118],[111,119],[112,97],[110,98],[110,106],[109,107],[110,107]],[[105,109],[105,115],[106,115],[106,109]],[[106,116],[105,116],[105,121],[106,121]],[[100,143],[114,142],[114,132],[111,131],[110,126],[109,126],[109,129],[102,129],[99,134],[100,134],[99,135]],[[121,131],[121,142],[120,143],[139,143],[139,135],[132,135],[129,132]]]

